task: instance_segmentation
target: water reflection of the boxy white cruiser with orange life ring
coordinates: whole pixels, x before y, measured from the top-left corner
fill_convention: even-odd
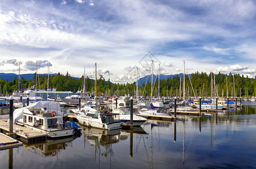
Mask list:
[[[61,153],[61,150],[67,146],[72,146],[72,141],[76,137],[67,137],[64,139],[50,140],[46,139],[45,143],[23,144],[24,149],[32,153],[40,154],[44,157],[52,157]]]

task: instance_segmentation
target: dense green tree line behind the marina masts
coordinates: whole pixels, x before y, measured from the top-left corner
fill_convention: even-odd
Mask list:
[[[26,88],[32,88],[37,86],[39,89],[56,88],[57,91],[72,91],[77,92],[82,90],[84,78],[74,78],[70,74],[50,75],[49,84],[48,75],[37,75],[36,85],[36,73],[34,74],[33,81],[27,81],[23,77],[20,79],[22,90]],[[184,78],[180,78],[178,75],[168,79],[160,79],[158,86],[158,79],[153,86],[153,96],[158,96],[158,90],[160,96],[183,96],[183,82]],[[85,78],[85,90],[88,94],[94,93],[95,91],[95,80],[89,77]],[[19,79],[15,77],[14,81],[5,81],[0,79],[0,92],[1,94],[11,94],[13,91],[19,90]],[[159,87],[159,88],[158,88]],[[105,96],[112,95],[134,95],[136,96],[136,82],[134,83],[111,83],[102,75],[99,75],[97,79],[97,91],[98,94],[104,94]],[[215,91],[218,97],[245,97],[255,96],[256,82],[255,78],[249,78],[248,76],[240,74],[223,74],[223,73],[192,73],[185,75],[185,95],[189,96],[211,96],[212,91]],[[142,83],[138,87],[139,96],[150,96],[151,95],[151,83]]]

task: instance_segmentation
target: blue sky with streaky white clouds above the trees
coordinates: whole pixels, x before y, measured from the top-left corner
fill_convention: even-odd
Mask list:
[[[147,74],[256,75],[256,2],[0,1],[0,72],[70,73],[112,82]]]

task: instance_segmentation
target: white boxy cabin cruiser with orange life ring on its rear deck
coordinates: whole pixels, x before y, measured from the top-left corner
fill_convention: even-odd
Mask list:
[[[65,124],[63,117],[43,108],[24,108],[23,117],[16,123],[43,132],[50,138],[72,136],[75,132],[75,128],[72,128],[73,123]]]

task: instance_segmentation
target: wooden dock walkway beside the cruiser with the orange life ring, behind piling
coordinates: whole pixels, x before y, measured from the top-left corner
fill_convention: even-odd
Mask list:
[[[7,134],[9,132],[9,123],[5,120],[0,120],[0,131],[3,134]],[[33,142],[33,141],[42,141],[46,140],[46,134],[32,130],[31,128],[22,127],[14,124],[14,138],[20,139],[25,143]]]

